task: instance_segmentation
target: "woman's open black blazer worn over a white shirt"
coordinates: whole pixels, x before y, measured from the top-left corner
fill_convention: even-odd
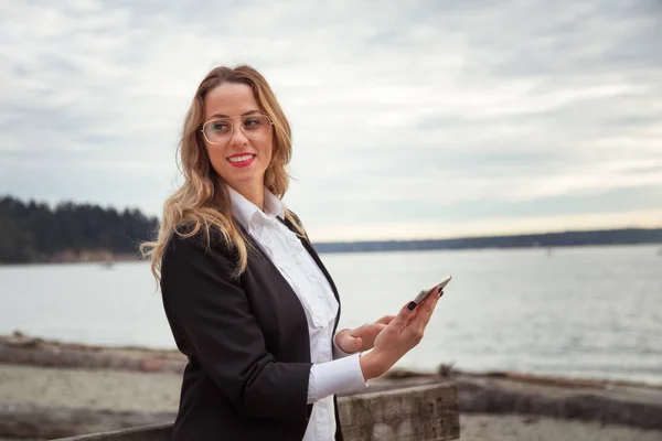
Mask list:
[[[248,267],[231,273],[236,252],[213,234],[168,243],[162,258],[163,308],[186,355],[174,441],[301,440],[307,405],[310,336],[297,294],[258,244],[236,223],[248,246]],[[296,232],[289,222],[285,224]],[[340,304],[338,290],[306,238]],[[340,308],[335,318],[335,329]],[[338,402],[335,439],[342,440]]]

